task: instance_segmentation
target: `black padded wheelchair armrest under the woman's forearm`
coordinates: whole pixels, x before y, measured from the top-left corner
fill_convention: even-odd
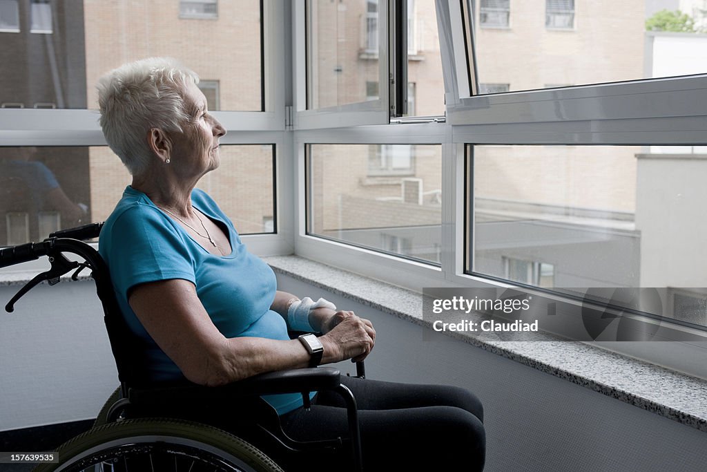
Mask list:
[[[267,372],[218,387],[184,381],[179,384],[129,387],[130,403],[178,403],[181,401],[218,401],[233,398],[332,390],[341,384],[341,372],[334,367],[315,367]]]

